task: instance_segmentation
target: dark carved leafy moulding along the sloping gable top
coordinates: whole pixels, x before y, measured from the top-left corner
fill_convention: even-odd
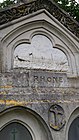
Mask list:
[[[46,9],[68,30],[79,37],[79,23],[50,0],[34,0],[28,3],[25,1],[24,3],[18,3],[9,8],[3,9],[0,11],[0,25],[18,19],[22,16],[26,16],[40,9]]]

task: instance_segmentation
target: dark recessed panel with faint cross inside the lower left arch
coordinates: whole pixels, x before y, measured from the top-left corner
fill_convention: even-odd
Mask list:
[[[17,120],[13,120],[8,123],[3,129],[0,131],[0,139],[6,140],[33,140],[31,133],[28,128],[22,124],[22,122],[18,122]]]

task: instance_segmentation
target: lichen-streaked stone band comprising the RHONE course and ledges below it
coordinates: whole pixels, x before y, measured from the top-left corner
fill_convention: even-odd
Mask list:
[[[2,73],[0,79],[0,104],[5,107],[79,102],[79,89],[69,87],[64,73],[16,69]]]

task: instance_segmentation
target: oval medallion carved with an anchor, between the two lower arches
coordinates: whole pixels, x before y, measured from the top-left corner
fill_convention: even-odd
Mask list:
[[[61,106],[54,104],[49,109],[49,125],[58,131],[65,125],[64,110]]]

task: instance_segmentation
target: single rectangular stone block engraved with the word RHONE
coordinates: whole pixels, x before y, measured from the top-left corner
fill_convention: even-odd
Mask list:
[[[64,73],[54,73],[46,70],[31,70],[32,87],[66,87],[67,76]]]

